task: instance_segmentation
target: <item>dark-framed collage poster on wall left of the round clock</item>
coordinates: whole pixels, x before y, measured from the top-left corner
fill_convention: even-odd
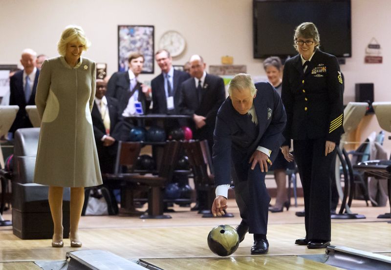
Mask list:
[[[128,57],[132,52],[144,55],[141,73],[153,73],[153,25],[118,25],[118,71],[128,70]]]

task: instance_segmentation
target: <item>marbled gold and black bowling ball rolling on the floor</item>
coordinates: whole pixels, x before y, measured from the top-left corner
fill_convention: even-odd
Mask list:
[[[218,256],[229,256],[239,247],[239,234],[229,225],[219,225],[208,234],[208,246]]]

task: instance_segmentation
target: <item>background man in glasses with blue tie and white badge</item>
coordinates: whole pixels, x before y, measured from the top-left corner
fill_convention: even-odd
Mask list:
[[[155,54],[157,64],[162,73],[151,82],[152,113],[178,114],[180,84],[190,78],[186,72],[175,70],[172,57],[167,50],[159,50]]]

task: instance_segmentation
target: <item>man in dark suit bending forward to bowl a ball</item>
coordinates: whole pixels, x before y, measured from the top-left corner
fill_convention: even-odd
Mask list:
[[[247,231],[254,234],[251,254],[267,253],[266,238],[270,196],[265,186],[268,166],[284,142],[286,114],[282,101],[269,83],[252,83],[247,74],[236,75],[229,97],[217,112],[213,145],[216,198],[214,216],[224,214],[231,174],[242,221],[240,242]]]

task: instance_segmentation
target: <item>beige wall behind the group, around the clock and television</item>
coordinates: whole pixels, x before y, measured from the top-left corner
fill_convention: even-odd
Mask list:
[[[0,64],[19,62],[25,47],[56,56],[65,25],[79,24],[92,42],[86,57],[108,63],[112,74],[117,66],[117,25],[140,24],[155,26],[155,43],[167,30],[185,37],[187,48],[174,64],[183,64],[195,53],[207,64],[219,64],[221,56],[230,55],[235,64],[246,64],[251,75],[264,75],[261,61],[252,57],[252,0],[1,0],[0,5]],[[355,83],[374,83],[375,100],[391,101],[390,10],[390,0],[352,0],[352,58],[341,66],[345,103],[354,101]],[[372,37],[383,49],[383,64],[364,64]],[[142,75],[141,80],[159,72],[155,65],[155,74]],[[362,140],[380,130],[375,117],[365,127]],[[391,142],[386,146],[390,153]]]

